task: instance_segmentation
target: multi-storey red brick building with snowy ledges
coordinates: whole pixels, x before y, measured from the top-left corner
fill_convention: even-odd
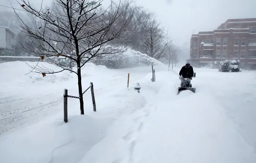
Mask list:
[[[239,59],[242,68],[256,69],[256,18],[228,19],[214,31],[191,36],[191,65],[226,59]]]

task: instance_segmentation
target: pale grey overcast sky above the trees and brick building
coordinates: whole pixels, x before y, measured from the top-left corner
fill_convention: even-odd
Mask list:
[[[11,6],[10,1],[0,0]],[[3,2],[2,2],[3,1]],[[44,0],[45,4],[51,0]],[[109,0],[106,0],[109,1]],[[169,30],[173,43],[189,45],[191,34],[216,29],[227,19],[256,17],[256,0],[133,0],[157,13],[159,21]],[[30,0],[35,7],[41,0]],[[16,5],[16,7],[19,7]],[[19,7],[20,8],[20,7]],[[0,9],[6,9],[1,7]]]

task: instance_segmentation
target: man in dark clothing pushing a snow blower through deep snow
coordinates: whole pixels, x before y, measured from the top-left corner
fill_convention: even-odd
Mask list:
[[[196,88],[192,88],[192,85],[190,83],[194,75],[194,71],[193,71],[193,67],[190,65],[188,61],[186,62],[186,65],[184,65],[181,68],[179,75],[180,75],[181,83],[180,83],[180,87],[178,88],[178,94],[184,90],[190,90],[195,93]]]

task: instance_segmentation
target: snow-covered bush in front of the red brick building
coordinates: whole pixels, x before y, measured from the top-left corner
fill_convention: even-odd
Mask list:
[[[222,62],[219,72],[241,72],[240,60],[225,60]]]

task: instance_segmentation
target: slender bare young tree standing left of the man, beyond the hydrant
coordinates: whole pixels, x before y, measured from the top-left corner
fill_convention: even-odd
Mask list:
[[[168,33],[165,33],[165,29],[160,27],[160,23],[157,22],[156,15],[154,15],[153,13],[147,13],[147,19],[146,22],[143,24],[142,29],[142,51],[148,56],[161,61],[165,57],[165,53],[168,49]],[[152,81],[154,81],[153,62],[151,63],[151,67]]]

